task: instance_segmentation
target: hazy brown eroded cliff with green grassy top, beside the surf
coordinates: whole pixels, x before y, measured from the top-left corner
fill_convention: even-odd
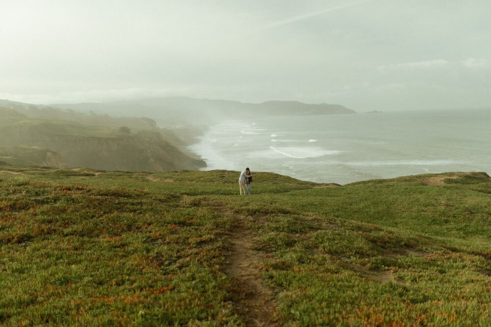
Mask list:
[[[166,142],[159,132],[116,137],[80,136],[63,134],[49,125],[25,124],[2,126],[0,134],[0,146],[50,149],[45,164],[54,167],[158,172],[206,166],[203,160],[191,158]]]

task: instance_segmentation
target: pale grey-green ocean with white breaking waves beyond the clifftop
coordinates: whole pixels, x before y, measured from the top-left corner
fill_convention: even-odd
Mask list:
[[[210,126],[189,149],[204,170],[265,171],[314,182],[491,173],[491,109],[246,117]]]

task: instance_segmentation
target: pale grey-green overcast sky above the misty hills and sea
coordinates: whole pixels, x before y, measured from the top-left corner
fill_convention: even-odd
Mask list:
[[[491,107],[489,0],[0,0],[0,99]]]

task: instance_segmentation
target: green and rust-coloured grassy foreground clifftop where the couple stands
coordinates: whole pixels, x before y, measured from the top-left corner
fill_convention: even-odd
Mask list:
[[[489,326],[491,178],[0,167],[0,323]],[[261,325],[262,324],[262,325]]]

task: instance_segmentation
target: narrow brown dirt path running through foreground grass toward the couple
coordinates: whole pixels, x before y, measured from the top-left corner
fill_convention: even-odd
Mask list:
[[[238,313],[246,326],[279,326],[273,322],[276,308],[271,290],[261,282],[259,275],[263,254],[253,249],[255,235],[245,226],[244,220],[244,217],[238,217],[232,231],[232,247],[224,269],[234,280]]]

